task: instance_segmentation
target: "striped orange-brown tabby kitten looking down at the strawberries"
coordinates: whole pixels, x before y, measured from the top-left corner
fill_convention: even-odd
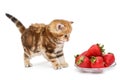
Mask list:
[[[31,24],[29,28],[12,15],[6,13],[21,32],[21,40],[24,48],[25,67],[31,67],[30,59],[42,54],[52,63],[54,69],[67,67],[63,46],[69,40],[73,22],[67,20],[53,20],[50,24]]]

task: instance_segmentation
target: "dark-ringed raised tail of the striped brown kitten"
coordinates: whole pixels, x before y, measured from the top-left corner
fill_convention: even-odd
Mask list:
[[[11,21],[12,21],[13,23],[16,24],[17,28],[19,29],[19,31],[20,31],[21,33],[23,33],[23,32],[25,31],[25,26],[24,26],[17,18],[15,18],[14,16],[12,16],[12,15],[10,15],[10,14],[8,14],[8,13],[6,13],[5,15],[6,15],[9,19],[11,19]]]

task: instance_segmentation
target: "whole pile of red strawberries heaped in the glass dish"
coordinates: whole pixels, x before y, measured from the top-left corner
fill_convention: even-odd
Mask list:
[[[104,68],[115,62],[113,53],[106,53],[104,45],[93,44],[90,48],[75,56],[75,64],[83,68]]]

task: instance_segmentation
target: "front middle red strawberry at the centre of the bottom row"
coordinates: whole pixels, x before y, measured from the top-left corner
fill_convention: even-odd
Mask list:
[[[91,67],[92,68],[103,68],[104,67],[104,60],[103,57],[91,57]]]

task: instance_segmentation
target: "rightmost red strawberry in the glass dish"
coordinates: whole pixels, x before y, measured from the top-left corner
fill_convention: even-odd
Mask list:
[[[115,61],[115,56],[113,53],[105,54],[103,58],[106,67],[110,66]]]

